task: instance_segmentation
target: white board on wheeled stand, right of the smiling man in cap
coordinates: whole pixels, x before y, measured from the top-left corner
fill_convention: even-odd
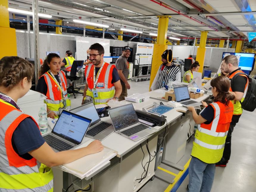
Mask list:
[[[153,47],[154,44],[152,43],[138,42],[135,59],[138,59],[138,62],[140,61],[140,65],[151,65]],[[138,65],[137,61],[134,61],[134,64]]]

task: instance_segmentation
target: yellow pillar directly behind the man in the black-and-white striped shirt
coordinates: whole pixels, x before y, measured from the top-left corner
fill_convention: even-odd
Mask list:
[[[154,50],[153,50],[149,88],[151,87],[152,82],[154,81],[154,78],[157,74],[157,70],[159,66],[162,64],[161,55],[167,49],[166,38],[167,38],[167,31],[168,31],[168,22],[171,16],[162,15],[162,16],[157,16],[157,18],[159,19],[158,31],[157,31],[157,43],[154,45]]]

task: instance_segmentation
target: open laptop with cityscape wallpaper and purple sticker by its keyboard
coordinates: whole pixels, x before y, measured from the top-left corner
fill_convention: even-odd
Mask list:
[[[132,141],[138,141],[157,131],[153,127],[140,123],[131,103],[109,109],[108,112],[115,132]]]

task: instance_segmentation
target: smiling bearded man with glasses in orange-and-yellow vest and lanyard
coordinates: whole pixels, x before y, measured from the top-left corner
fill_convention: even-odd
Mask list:
[[[89,50],[91,63],[85,67],[86,85],[82,104],[106,104],[110,99],[118,100],[122,86],[115,65],[104,62],[104,48],[101,44],[94,43]]]

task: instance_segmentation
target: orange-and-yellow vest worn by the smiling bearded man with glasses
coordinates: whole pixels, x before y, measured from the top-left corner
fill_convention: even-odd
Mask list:
[[[93,97],[93,73],[94,73],[94,65],[88,64],[85,67],[85,79],[88,85],[88,90],[86,91],[85,103],[93,101],[95,105],[97,104],[106,104],[107,100],[112,99],[115,95],[115,86],[112,81],[112,72],[115,68],[115,65],[110,65],[109,63],[105,63],[100,74],[98,83],[103,83],[103,87],[96,86],[96,90],[98,92],[98,97]]]

